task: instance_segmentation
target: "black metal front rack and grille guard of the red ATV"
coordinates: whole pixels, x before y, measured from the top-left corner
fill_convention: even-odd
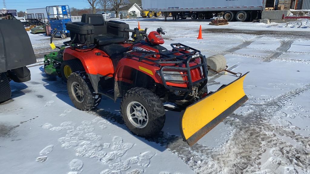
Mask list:
[[[178,100],[184,100],[192,92],[193,85],[203,82],[203,84],[198,89],[198,91],[200,91],[207,84],[208,70],[207,70],[206,57],[203,56],[199,50],[196,50],[189,46],[185,46],[181,43],[171,44],[170,46],[172,47],[172,51],[166,54],[156,53],[156,52],[151,52],[151,51],[131,50],[131,51],[125,52],[124,55],[128,58],[138,58],[139,61],[146,60],[148,62],[156,63],[160,67],[159,75],[162,78],[162,82],[165,88],[170,89],[170,90],[185,92],[185,95],[182,95],[178,98]],[[184,52],[184,50],[186,51],[192,50],[192,51],[189,53],[186,53]],[[138,55],[135,55],[134,53],[142,53],[144,55],[138,56]],[[181,53],[181,55],[175,55],[175,53]],[[160,55],[160,59],[154,60],[155,55]],[[153,58],[153,59],[150,59],[150,58]],[[201,63],[190,67],[189,63],[193,59],[198,59],[198,58],[200,58]],[[185,67],[162,66],[162,64],[167,64],[167,63],[171,63],[175,65],[179,63],[184,63]],[[190,74],[191,74],[191,70],[195,68],[200,68],[204,77],[200,80],[193,82]],[[183,74],[167,73],[167,71],[169,70],[170,71],[178,70],[179,72],[183,72]],[[182,76],[184,77],[183,79],[187,79],[187,80],[166,80],[164,76],[169,76],[169,75],[170,76]],[[187,88],[170,86],[170,85],[167,85],[167,82],[186,83]]]

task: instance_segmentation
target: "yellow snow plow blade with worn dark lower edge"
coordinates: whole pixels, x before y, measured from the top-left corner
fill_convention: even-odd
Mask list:
[[[246,74],[185,109],[180,120],[180,131],[189,146],[248,100],[243,90]]]

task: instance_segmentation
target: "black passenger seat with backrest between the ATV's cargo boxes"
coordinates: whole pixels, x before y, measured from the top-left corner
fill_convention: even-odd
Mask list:
[[[107,25],[101,14],[83,14],[81,22],[94,25],[94,41],[97,46],[104,46],[113,43],[122,43],[125,41],[124,37],[108,33]]]

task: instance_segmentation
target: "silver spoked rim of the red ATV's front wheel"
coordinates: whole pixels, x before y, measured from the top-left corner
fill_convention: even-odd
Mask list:
[[[148,124],[148,112],[139,102],[130,102],[126,108],[126,115],[136,128],[144,128]]]

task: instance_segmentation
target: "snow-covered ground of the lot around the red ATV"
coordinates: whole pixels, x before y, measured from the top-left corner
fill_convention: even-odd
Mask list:
[[[30,67],[31,81],[11,82],[12,99],[0,104],[0,173],[310,173],[310,27],[209,22],[140,20],[141,28],[167,32],[167,48],[180,42],[206,56],[224,54],[230,70],[250,71],[249,100],[197,144],[182,141],[177,112],[166,112],[160,135],[144,139],[124,125],[120,101],[77,110],[66,84],[41,65]],[[51,51],[49,37],[29,37],[38,60]],[[208,88],[234,79],[213,76]]]

